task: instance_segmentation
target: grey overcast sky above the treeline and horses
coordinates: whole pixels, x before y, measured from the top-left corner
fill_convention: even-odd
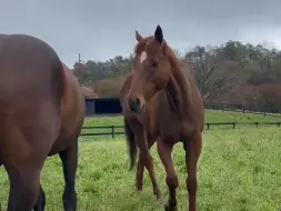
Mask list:
[[[38,37],[71,66],[129,56],[134,30],[163,29],[171,47],[228,40],[273,42],[281,49],[281,0],[0,0],[0,33]]]

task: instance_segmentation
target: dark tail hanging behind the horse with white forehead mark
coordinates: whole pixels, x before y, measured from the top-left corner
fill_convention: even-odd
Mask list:
[[[132,129],[129,125],[128,121],[126,120],[126,118],[124,118],[124,132],[126,132],[127,144],[129,148],[130,170],[132,170],[136,164],[138,149],[137,149],[134,134],[133,134]]]

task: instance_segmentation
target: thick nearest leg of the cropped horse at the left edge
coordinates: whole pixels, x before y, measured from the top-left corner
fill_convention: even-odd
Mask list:
[[[30,211],[33,209],[39,193],[41,167],[23,164],[16,169],[6,165],[10,180],[8,211]]]

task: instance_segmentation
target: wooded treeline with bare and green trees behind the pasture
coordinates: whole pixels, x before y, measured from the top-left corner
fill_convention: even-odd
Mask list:
[[[173,49],[182,67],[191,71],[205,102],[243,104],[281,112],[281,51],[272,43],[195,46],[184,53]],[[73,71],[84,87],[100,98],[117,97],[132,71],[132,54],[107,61],[76,62]]]

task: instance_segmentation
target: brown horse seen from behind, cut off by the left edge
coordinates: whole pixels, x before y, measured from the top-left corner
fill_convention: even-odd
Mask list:
[[[44,210],[46,158],[62,161],[66,211],[77,210],[78,137],[84,99],[73,73],[42,40],[0,36],[0,165],[10,180],[8,211]]]

